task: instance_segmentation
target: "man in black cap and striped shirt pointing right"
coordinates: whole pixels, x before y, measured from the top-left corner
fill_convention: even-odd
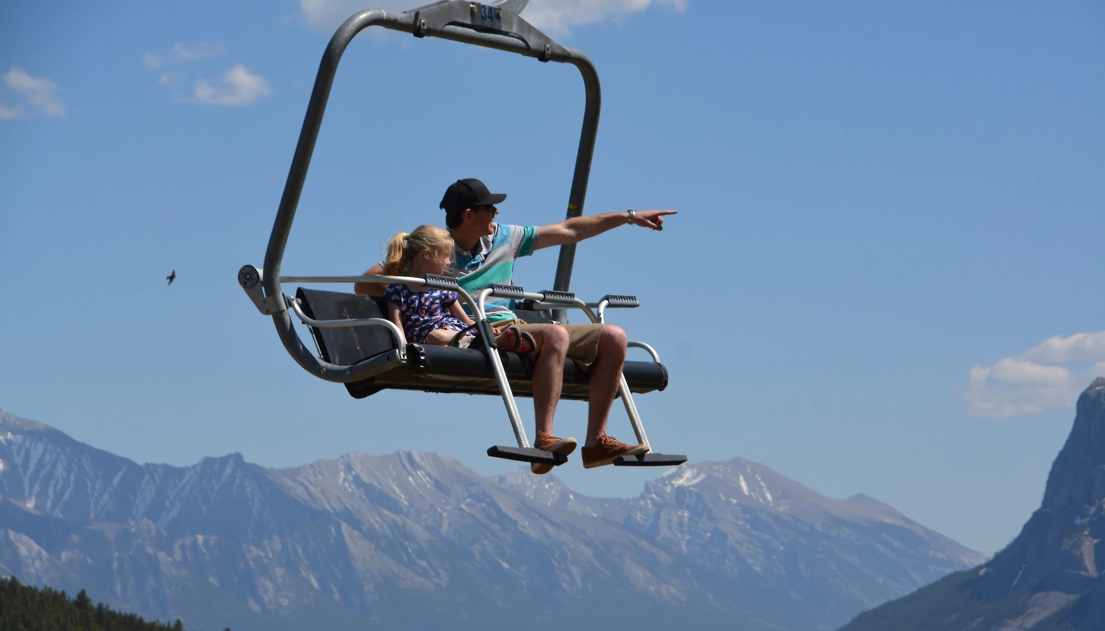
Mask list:
[[[495,222],[506,199],[492,193],[475,178],[457,180],[445,189],[440,208],[445,211],[445,227],[453,234],[454,260],[446,272],[469,293],[492,284],[509,285],[514,261],[535,250],[578,243],[624,224],[663,230],[664,215],[674,210],[641,210],[608,212],[575,217],[543,227],[509,225]],[[377,264],[365,274],[381,275]],[[382,287],[372,283],[355,286],[358,294],[378,295]],[[625,332],[610,324],[528,324],[511,311],[513,301],[498,299],[486,305],[487,319],[497,330],[516,326],[534,336],[537,358],[534,367],[534,416],[537,449],[567,455],[576,449],[576,439],[559,439],[552,434],[552,416],[560,400],[562,368],[570,357],[580,368],[589,370],[587,441],[580,450],[583,466],[591,469],[613,463],[618,456],[645,453],[642,444],[625,444],[607,434],[607,418],[621,382],[625,361]],[[465,305],[467,307],[467,305]],[[548,473],[551,464],[532,463],[530,471]]]

